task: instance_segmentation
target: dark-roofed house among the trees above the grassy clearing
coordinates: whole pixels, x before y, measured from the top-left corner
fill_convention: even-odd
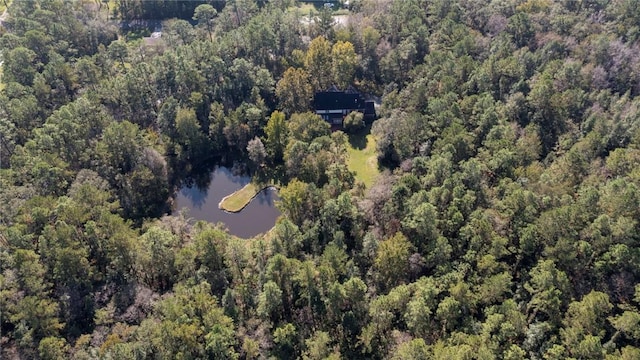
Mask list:
[[[331,125],[342,126],[345,116],[352,111],[361,112],[365,122],[376,118],[373,101],[365,100],[362,94],[353,88],[340,91],[333,86],[327,91],[317,92],[313,97],[313,106],[316,114]]]

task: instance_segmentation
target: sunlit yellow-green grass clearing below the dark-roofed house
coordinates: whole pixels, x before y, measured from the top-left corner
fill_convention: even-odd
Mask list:
[[[371,134],[371,125],[355,134],[349,135],[347,165],[356,173],[356,180],[362,181],[367,188],[373,185],[380,174],[376,154],[376,138]]]

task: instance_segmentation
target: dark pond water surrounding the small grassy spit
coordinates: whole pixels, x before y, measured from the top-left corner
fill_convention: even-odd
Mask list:
[[[225,167],[216,168],[211,173],[208,188],[199,189],[196,185],[191,185],[180,189],[176,196],[176,211],[188,208],[188,217],[212,223],[222,222],[229,233],[242,238],[267,232],[280,216],[280,211],[275,207],[275,201],[278,200],[275,190],[262,191],[239,213],[232,214],[218,209],[218,203],[223,197],[241,189],[250,180],[249,176],[234,175]]]

